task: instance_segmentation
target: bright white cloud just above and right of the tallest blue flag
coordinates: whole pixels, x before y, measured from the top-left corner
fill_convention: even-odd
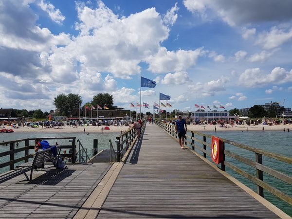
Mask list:
[[[148,70],[153,73],[182,72],[197,63],[202,48],[196,50],[167,51],[161,47],[157,54],[148,56],[145,60],[149,63]]]

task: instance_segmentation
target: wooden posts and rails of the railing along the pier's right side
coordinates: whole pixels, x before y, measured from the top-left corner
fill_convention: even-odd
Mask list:
[[[166,133],[170,134],[174,138],[178,138],[177,133],[175,132],[174,125],[166,124],[166,123],[159,122],[159,121],[155,121],[155,124],[157,124]],[[206,142],[206,138],[212,138],[212,135],[208,135],[208,134],[196,132],[196,131],[189,131],[189,130],[187,130],[187,133],[191,134],[191,136],[190,135],[185,136],[185,145],[186,146],[192,147],[193,150],[197,149],[197,150],[201,151],[203,153],[204,158],[206,158],[206,155],[211,156],[211,153],[206,149],[206,146],[211,147],[211,145]],[[195,135],[202,136],[203,140],[201,141],[198,138],[195,138]],[[227,139],[221,139],[221,140],[223,142],[223,162],[221,163],[221,170],[225,171],[225,166],[227,166],[230,169],[232,169],[233,171],[240,174],[241,176],[244,176],[245,178],[247,178],[251,182],[255,183],[257,186],[257,193],[260,196],[264,197],[264,189],[265,189],[265,190],[269,191],[270,193],[272,193],[273,195],[280,198],[281,200],[285,201],[286,203],[292,205],[292,198],[289,195],[274,188],[269,183],[264,182],[263,172],[265,172],[265,173],[273,176],[274,178],[279,179],[285,183],[288,183],[288,184],[292,184],[292,177],[288,176],[287,174],[284,174],[282,172],[279,172],[277,170],[274,170],[271,167],[263,165],[263,156],[267,156],[267,157],[270,157],[270,158],[275,159],[277,161],[285,162],[287,164],[292,164],[292,158],[286,157],[286,156],[283,156],[280,154],[275,154],[275,153],[265,151],[262,149],[257,149],[255,147],[244,145],[244,144],[230,141]],[[229,150],[226,150],[225,143],[232,145],[232,146],[236,146],[236,147],[245,149],[245,150],[248,150],[248,151],[251,151],[251,152],[254,152],[255,158],[256,158],[255,161],[248,159],[248,158],[245,158],[243,156],[240,156],[238,154],[235,154]],[[202,145],[203,147],[199,146],[199,145]],[[233,159],[236,159],[237,161],[239,161],[243,164],[247,164],[251,167],[254,167],[256,169],[256,176],[242,170],[241,168],[239,168],[238,166],[236,166],[234,164],[231,164],[230,162],[227,162],[226,158],[225,158],[226,156],[233,158]]]

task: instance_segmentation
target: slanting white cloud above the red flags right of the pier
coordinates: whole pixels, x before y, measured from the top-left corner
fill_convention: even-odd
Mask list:
[[[197,82],[196,84],[188,85],[189,92],[197,97],[214,96],[216,92],[225,91],[225,84],[228,82],[227,78],[211,80],[206,83]]]

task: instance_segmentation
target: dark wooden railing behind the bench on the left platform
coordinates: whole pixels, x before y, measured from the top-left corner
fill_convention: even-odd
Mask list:
[[[18,139],[14,141],[1,142],[1,147],[8,147],[7,151],[0,153],[0,168],[9,166],[9,170],[14,170],[15,164],[18,162],[26,163],[30,158],[34,157],[35,140],[37,138],[25,138]],[[66,156],[72,158],[72,163],[75,163],[75,147],[76,147],[76,137],[46,137],[42,138],[43,140],[66,140],[68,139],[71,142],[71,145],[62,144],[63,149],[70,149],[71,153],[61,154],[61,156]],[[33,141],[33,142],[32,142]],[[24,146],[23,146],[24,145]],[[23,154],[24,152],[24,154]],[[9,156],[7,159],[6,156]],[[6,157],[6,158],[5,158]]]

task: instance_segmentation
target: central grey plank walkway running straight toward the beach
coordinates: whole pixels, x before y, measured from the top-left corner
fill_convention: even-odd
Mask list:
[[[279,218],[161,128],[147,125],[98,218]]]

